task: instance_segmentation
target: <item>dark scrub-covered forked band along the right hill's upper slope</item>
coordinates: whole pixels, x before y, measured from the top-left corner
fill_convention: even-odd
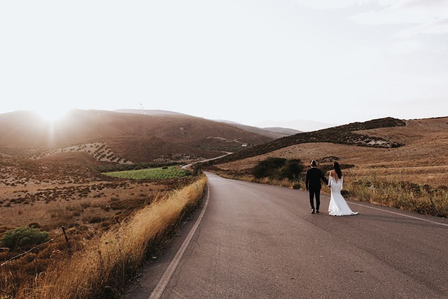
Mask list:
[[[212,163],[220,164],[236,161],[271,152],[277,149],[286,148],[292,145],[304,143],[334,143],[371,148],[397,148],[400,147],[401,144],[381,137],[367,136],[355,131],[371,130],[377,128],[390,128],[405,125],[406,123],[402,120],[394,118],[383,118],[363,123],[351,123],[348,125],[338,126],[315,132],[305,132],[274,140],[270,143],[255,146],[253,148],[244,149],[231,155],[225,156],[221,159],[215,160]]]

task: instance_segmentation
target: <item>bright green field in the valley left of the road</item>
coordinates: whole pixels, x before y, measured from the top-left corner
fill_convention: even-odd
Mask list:
[[[185,169],[180,169],[176,166],[169,166],[167,169],[158,168],[148,168],[148,169],[138,169],[138,170],[124,170],[124,171],[113,171],[104,172],[103,174],[121,178],[133,178],[133,179],[144,179],[144,178],[176,178],[188,175],[188,171]]]

